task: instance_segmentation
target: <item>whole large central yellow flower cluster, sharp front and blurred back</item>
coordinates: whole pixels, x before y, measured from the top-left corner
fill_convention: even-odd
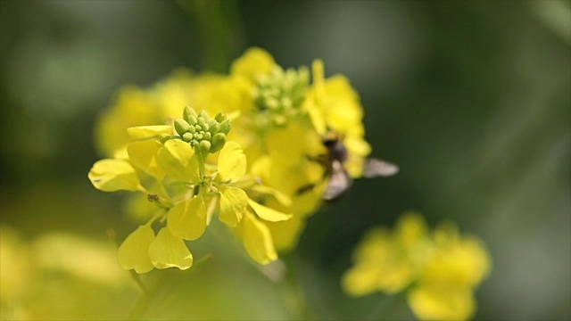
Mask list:
[[[128,201],[146,223],[120,246],[124,268],[190,267],[183,240],[200,237],[215,213],[260,263],[295,246],[329,183],[327,161],[316,161],[327,155],[323,137],[342,137],[347,176],[362,175],[370,152],[348,79],[326,79],[320,61],[311,70],[312,81],[308,68],[284,70],[251,48],[228,75],[178,70],[152,88],[120,91],[96,127],[112,158],[89,178],[102,191],[142,192]],[[183,106],[200,112],[187,107],[177,119]]]

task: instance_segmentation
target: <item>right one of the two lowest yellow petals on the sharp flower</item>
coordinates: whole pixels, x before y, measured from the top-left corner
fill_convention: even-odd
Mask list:
[[[149,245],[149,257],[155,268],[180,268],[186,270],[193,265],[193,255],[185,242],[172,235],[168,228],[161,228],[153,243]]]

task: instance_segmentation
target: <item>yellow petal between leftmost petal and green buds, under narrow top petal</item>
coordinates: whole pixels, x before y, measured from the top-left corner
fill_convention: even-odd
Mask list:
[[[128,144],[129,161],[137,168],[142,169],[146,174],[162,179],[164,172],[159,168],[156,160],[156,155],[161,147],[162,144],[153,139]]]

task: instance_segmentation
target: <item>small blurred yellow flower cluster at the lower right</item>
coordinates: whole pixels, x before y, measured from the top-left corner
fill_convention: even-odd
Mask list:
[[[460,236],[451,223],[429,234],[417,213],[404,214],[393,231],[377,227],[354,251],[354,266],[343,276],[352,296],[407,291],[414,314],[423,320],[465,320],[476,311],[473,292],[491,261],[476,237]]]

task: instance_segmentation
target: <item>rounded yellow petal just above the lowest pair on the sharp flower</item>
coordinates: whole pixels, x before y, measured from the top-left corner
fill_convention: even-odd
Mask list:
[[[180,202],[170,209],[167,226],[172,235],[196,240],[206,229],[206,206],[202,195]]]

